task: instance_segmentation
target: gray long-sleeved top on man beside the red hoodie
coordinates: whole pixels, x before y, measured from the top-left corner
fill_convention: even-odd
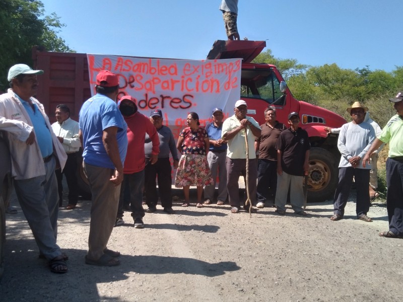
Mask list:
[[[169,152],[172,154],[172,158],[178,161],[178,153],[176,149],[175,139],[173,137],[171,129],[167,126],[162,126],[159,130],[157,129],[158,137],[160,139],[160,153],[158,154],[159,159],[169,158]],[[146,140],[144,144],[144,151],[146,158],[151,157],[151,152],[153,149],[153,142],[150,136],[146,133]]]

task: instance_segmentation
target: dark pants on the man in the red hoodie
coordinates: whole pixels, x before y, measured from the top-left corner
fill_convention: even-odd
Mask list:
[[[123,217],[124,188],[128,184],[130,189],[130,208],[133,219],[143,218],[145,211],[143,208],[144,170],[133,174],[124,174],[120,187],[119,206],[116,217]]]

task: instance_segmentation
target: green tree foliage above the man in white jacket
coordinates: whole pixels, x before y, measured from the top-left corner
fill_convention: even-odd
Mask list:
[[[17,63],[32,66],[31,49],[44,46],[48,51],[72,52],[58,36],[65,25],[55,13],[44,15],[39,0],[0,0],[0,90],[8,87],[8,69]]]

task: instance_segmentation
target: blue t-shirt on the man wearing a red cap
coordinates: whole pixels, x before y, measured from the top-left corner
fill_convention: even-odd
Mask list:
[[[115,126],[118,127],[116,139],[120,160],[124,163],[127,152],[127,124],[115,102],[104,95],[96,94],[81,107],[79,124],[83,132],[84,162],[115,169],[102,141],[103,130]]]

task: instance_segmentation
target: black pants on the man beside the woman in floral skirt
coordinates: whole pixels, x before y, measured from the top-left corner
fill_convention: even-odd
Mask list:
[[[169,158],[158,159],[158,161],[151,165],[150,161],[146,160],[145,168],[145,186],[146,186],[146,203],[148,207],[153,208],[157,206],[158,193],[156,178],[158,177],[158,192],[160,193],[162,207],[172,207],[171,196],[171,163]]]

